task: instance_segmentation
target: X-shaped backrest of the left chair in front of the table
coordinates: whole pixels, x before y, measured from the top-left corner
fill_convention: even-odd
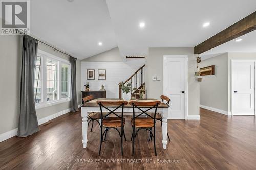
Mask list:
[[[110,114],[114,114],[116,117],[123,119],[123,107],[124,107],[124,105],[127,105],[128,102],[125,100],[98,100],[97,104],[100,107],[101,119],[109,116]],[[106,110],[109,111],[109,113],[104,116],[103,116],[103,111],[102,111],[103,108],[105,108]],[[114,108],[114,109],[111,110],[110,108]],[[118,108],[122,108],[121,116],[119,116],[118,114],[115,113],[115,111]]]

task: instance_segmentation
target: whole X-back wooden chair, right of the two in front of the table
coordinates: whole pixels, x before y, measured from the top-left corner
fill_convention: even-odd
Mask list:
[[[157,156],[157,150],[156,150],[156,113],[157,113],[157,107],[161,104],[160,101],[131,101],[129,102],[130,105],[133,106],[133,118],[131,120],[131,124],[133,127],[133,133],[132,133],[132,139],[133,139],[133,155],[134,155],[134,140],[136,135],[141,129],[148,130],[151,134],[151,136],[154,138],[154,149],[155,149],[155,155]],[[142,107],[150,106],[149,109],[146,109],[145,111],[142,109]],[[137,116],[135,116],[135,109],[138,109],[141,111]],[[151,116],[148,114],[148,111],[154,110],[154,116]],[[137,112],[136,112],[137,113]],[[146,115],[147,117],[141,117],[142,115]],[[135,128],[137,128],[135,132]],[[154,128],[154,132],[152,132],[152,128]],[[153,134],[154,133],[154,134]]]

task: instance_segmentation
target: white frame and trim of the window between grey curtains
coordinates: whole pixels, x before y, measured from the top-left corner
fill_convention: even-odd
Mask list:
[[[65,102],[69,102],[71,101],[71,94],[69,98],[61,98],[61,64],[68,64],[69,68],[71,68],[71,63],[68,60],[62,59],[60,57],[57,57],[53,54],[47,53],[45,51],[39,50],[37,52],[38,56],[41,56],[41,102],[40,103],[36,103],[35,104],[35,108],[36,109],[40,109],[40,108],[45,108],[45,107],[49,107],[49,106],[53,106],[53,105],[57,105],[60,103],[65,103]],[[47,72],[45,70],[45,65],[46,65],[46,59],[47,58],[52,58],[54,60],[57,60],[57,65],[58,65],[58,99],[54,100],[54,101],[47,101]],[[71,70],[71,69],[70,69]],[[69,73],[69,79],[70,79],[70,83],[71,83],[71,72]],[[71,93],[71,85],[69,85],[69,93]]]

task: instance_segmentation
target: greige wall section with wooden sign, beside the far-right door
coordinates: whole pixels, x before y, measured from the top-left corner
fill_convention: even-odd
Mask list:
[[[201,68],[215,65],[215,75],[202,76],[200,82],[200,105],[228,111],[228,54],[202,60]]]

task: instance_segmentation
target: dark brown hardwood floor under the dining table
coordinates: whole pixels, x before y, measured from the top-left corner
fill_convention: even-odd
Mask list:
[[[68,113],[41,125],[41,131],[32,136],[1,142],[0,169],[255,169],[255,117],[227,117],[205,109],[200,112],[200,121],[168,120],[172,141],[167,150],[162,149],[158,123],[157,157],[153,142],[147,142],[148,134],[143,130],[131,156],[131,116],[126,116],[123,157],[115,130],[108,133],[98,156],[98,125],[88,133],[88,147],[83,149],[80,112]],[[115,162],[108,162],[111,160]]]

